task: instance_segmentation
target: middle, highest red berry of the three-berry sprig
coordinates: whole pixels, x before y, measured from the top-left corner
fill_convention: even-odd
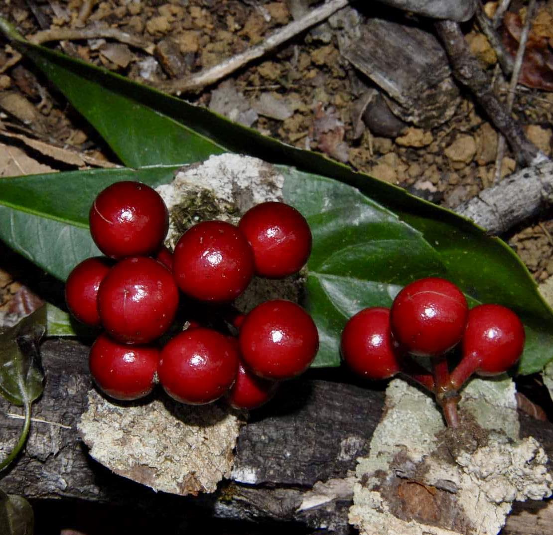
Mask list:
[[[429,277],[411,282],[395,298],[390,311],[392,332],[415,355],[445,353],[465,331],[465,296],[450,281]]]

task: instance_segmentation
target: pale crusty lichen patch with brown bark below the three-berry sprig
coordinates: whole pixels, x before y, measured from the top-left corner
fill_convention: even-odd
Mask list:
[[[390,382],[369,457],[358,460],[349,522],[362,534],[495,535],[513,501],[551,495],[544,450],[518,440],[512,381],[473,380],[463,399],[479,432],[452,444],[431,397]]]

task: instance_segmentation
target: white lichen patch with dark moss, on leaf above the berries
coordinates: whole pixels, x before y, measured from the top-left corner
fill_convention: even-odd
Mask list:
[[[190,226],[206,219],[237,223],[255,204],[281,201],[283,185],[274,166],[252,156],[221,154],[182,167],[173,182],[156,188],[171,216],[166,245],[173,247],[182,232],[179,206],[195,212]]]

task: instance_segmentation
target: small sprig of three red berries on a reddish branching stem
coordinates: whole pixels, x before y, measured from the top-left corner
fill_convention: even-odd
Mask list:
[[[465,296],[450,281],[420,279],[405,286],[391,308],[365,308],[342,333],[349,367],[368,379],[403,373],[432,391],[446,421],[457,426],[457,391],[476,373],[497,375],[513,366],[524,349],[517,314],[500,305],[468,310]],[[447,353],[460,344],[461,358],[450,371]],[[430,357],[432,373],[410,355]]]

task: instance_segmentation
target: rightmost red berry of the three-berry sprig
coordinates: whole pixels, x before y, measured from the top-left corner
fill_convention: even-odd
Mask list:
[[[524,326],[509,308],[479,305],[468,313],[463,360],[477,362],[479,375],[502,374],[520,358],[524,338]]]

